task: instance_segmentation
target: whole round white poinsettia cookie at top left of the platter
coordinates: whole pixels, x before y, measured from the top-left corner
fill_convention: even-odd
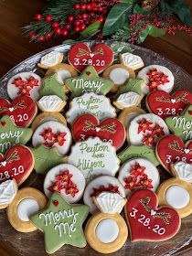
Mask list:
[[[41,78],[37,74],[22,72],[8,80],[7,93],[12,100],[18,96],[29,96],[33,101],[37,101],[40,97],[39,90],[41,87]]]

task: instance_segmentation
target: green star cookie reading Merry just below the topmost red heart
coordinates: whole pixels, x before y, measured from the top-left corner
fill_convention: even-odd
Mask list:
[[[80,77],[65,80],[65,84],[71,91],[71,97],[78,97],[84,92],[95,92],[96,94],[107,94],[111,91],[113,82],[101,79],[96,70],[89,66],[81,73]]]

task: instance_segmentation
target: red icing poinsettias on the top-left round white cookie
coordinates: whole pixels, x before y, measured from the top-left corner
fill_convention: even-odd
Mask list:
[[[30,76],[27,80],[23,80],[21,77],[16,78],[12,84],[18,88],[18,95],[30,95],[30,91],[38,86],[38,80],[36,80],[33,76]]]

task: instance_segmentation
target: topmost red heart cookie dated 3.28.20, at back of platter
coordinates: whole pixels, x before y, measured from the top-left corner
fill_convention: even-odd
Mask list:
[[[82,71],[87,66],[93,66],[98,73],[112,64],[112,48],[105,44],[95,45],[92,49],[86,44],[79,43],[70,48],[68,60],[78,71]]]

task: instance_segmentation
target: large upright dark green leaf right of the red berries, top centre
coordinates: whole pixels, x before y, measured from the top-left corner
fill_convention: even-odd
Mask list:
[[[102,28],[103,36],[112,35],[121,29],[125,24],[129,23],[129,14],[133,11],[133,4],[116,4],[107,16],[104,27]]]

